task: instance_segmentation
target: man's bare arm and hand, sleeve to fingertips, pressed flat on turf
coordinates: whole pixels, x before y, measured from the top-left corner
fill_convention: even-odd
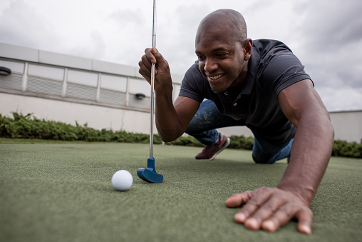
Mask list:
[[[258,188],[227,199],[242,206],[234,219],[250,229],[276,231],[292,218],[302,233],[311,233],[309,209],[331,157],[334,131],[328,111],[310,80],[299,81],[278,96],[284,114],[296,126],[291,159],[277,188]]]

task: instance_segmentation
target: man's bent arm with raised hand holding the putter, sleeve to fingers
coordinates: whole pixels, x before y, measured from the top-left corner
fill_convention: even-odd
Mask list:
[[[179,96],[172,104],[172,79],[170,67],[157,49],[146,49],[138,63],[140,74],[150,83],[151,64],[155,64],[155,114],[157,131],[162,141],[170,142],[185,132],[200,103]]]

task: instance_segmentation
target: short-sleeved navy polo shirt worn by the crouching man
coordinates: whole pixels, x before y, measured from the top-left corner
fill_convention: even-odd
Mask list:
[[[259,39],[253,41],[247,78],[242,86],[212,91],[196,61],[186,72],[179,95],[200,103],[210,99],[221,114],[238,120],[254,135],[278,144],[289,141],[296,131],[281,111],[278,94],[304,79],[311,78],[288,46],[276,40]]]

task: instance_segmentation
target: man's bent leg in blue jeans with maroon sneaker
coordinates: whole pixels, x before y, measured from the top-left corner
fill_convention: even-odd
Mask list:
[[[213,160],[218,153],[229,145],[230,139],[215,128],[241,125],[242,123],[239,121],[220,114],[212,101],[203,101],[185,131],[188,135],[205,144],[205,148],[195,158]]]

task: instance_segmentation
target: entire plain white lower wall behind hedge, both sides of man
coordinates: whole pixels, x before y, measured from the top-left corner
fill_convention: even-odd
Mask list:
[[[11,117],[11,112],[33,114],[38,119],[61,121],[88,126],[96,129],[124,130],[133,133],[150,133],[150,114],[142,111],[115,109],[105,106],[78,104],[68,101],[42,99],[32,96],[0,93],[0,114]],[[335,130],[335,139],[361,143],[362,111],[330,113]],[[227,136],[253,136],[247,127],[219,128]],[[157,129],[154,126],[154,132]]]

